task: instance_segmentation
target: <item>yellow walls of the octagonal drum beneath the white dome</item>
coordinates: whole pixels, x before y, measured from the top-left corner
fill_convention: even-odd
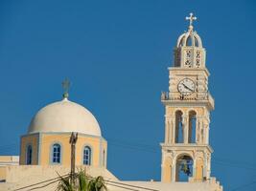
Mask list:
[[[31,144],[33,146],[33,163],[39,165],[53,164],[51,161],[52,146],[55,143],[61,146],[61,165],[70,165],[71,148],[69,143],[70,133],[41,133],[27,135],[21,138],[21,155],[20,164],[26,164],[26,147]],[[39,145],[38,145],[39,144]],[[89,146],[92,151],[92,166],[103,165],[103,152],[105,150],[105,166],[107,155],[107,142],[104,138],[92,137],[79,134],[76,144],[76,165],[82,165],[83,148]],[[37,160],[37,156],[38,160]],[[58,165],[58,164],[53,164]]]

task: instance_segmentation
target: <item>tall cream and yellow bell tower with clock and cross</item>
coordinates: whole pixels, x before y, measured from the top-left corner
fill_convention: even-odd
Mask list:
[[[165,182],[210,179],[209,124],[214,99],[208,91],[205,49],[193,27],[196,19],[193,13],[186,17],[190,24],[177,39],[169,92],[161,95],[165,106],[161,180]]]

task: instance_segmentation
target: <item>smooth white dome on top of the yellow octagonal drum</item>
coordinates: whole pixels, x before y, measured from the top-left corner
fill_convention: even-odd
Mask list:
[[[96,118],[67,98],[39,110],[31,121],[28,133],[37,132],[78,132],[101,137],[101,128]]]

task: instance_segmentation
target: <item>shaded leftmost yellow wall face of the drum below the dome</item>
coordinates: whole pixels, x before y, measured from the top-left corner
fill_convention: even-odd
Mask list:
[[[38,134],[32,134],[21,138],[20,164],[26,164],[26,152],[28,145],[32,145],[32,164],[35,165],[38,163],[38,136]]]

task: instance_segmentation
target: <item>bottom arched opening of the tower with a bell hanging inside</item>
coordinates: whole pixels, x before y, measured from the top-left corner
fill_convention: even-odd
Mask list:
[[[182,155],[176,159],[176,181],[188,181],[193,176],[193,159]]]

